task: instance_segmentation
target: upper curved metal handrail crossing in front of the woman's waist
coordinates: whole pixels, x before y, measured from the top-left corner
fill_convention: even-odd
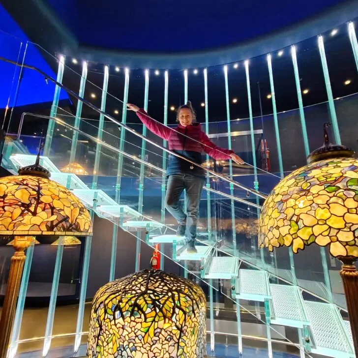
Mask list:
[[[3,57],[0,57],[0,60],[1,61],[5,61],[5,62],[8,62],[8,63],[11,63],[11,64],[14,64],[15,66],[22,66],[22,67],[25,67],[25,68],[28,68],[28,69],[31,69],[31,70],[34,70],[38,73],[40,73],[41,75],[43,75],[45,78],[47,78],[48,80],[50,80],[51,82],[53,82],[55,85],[59,86],[61,89],[63,89],[64,91],[66,91],[67,93],[70,93],[72,96],[74,96],[76,99],[78,99],[79,101],[85,103],[86,105],[88,105],[91,109],[93,109],[94,111],[98,112],[99,114],[103,115],[104,117],[106,117],[107,119],[110,119],[111,121],[113,121],[114,123],[118,124],[120,127],[124,128],[125,130],[128,130],[129,132],[133,133],[134,135],[136,135],[137,137],[145,140],[146,142],[152,144],[153,146],[159,148],[159,149],[162,149],[182,160],[185,160],[187,162],[189,162],[190,164],[192,165],[195,165],[201,169],[204,169],[206,172],[210,173],[211,175],[217,177],[217,178],[220,178],[224,181],[227,181],[229,182],[230,184],[232,185],[235,185],[237,187],[239,187],[240,189],[244,189],[245,191],[248,191],[250,192],[251,194],[254,194],[254,195],[257,195],[258,197],[260,198],[263,198],[263,199],[266,199],[267,198],[267,195],[257,191],[257,190],[254,190],[254,189],[251,189],[250,187],[248,186],[245,186],[245,185],[242,185],[240,184],[239,182],[235,181],[235,180],[232,180],[232,179],[229,179],[229,178],[226,178],[224,177],[223,175],[221,174],[218,174],[198,163],[195,163],[194,161],[176,153],[176,152],[173,152],[163,146],[161,146],[160,144],[158,143],[155,143],[153,141],[151,141],[150,139],[148,139],[146,136],[144,136],[143,134],[140,134],[138,133],[137,131],[135,131],[134,129],[128,127],[127,125],[119,122],[117,119],[114,119],[112,116],[108,115],[107,113],[103,112],[102,110],[100,110],[99,108],[97,108],[96,106],[94,106],[93,104],[91,104],[89,101],[87,101],[86,99],[80,97],[77,93],[75,93],[74,91],[72,91],[71,89],[68,89],[67,87],[63,86],[61,83],[57,82],[54,78],[52,78],[51,76],[48,76],[45,72],[41,71],[40,69],[38,69],[37,67],[34,67],[34,66],[29,66],[29,65],[26,65],[26,64],[19,64],[17,62],[14,62],[14,61],[11,61],[11,60],[8,60],[8,59],[5,59]],[[20,129],[20,128],[19,128]]]

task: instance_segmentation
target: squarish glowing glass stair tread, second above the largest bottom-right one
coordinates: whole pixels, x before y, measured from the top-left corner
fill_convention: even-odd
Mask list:
[[[270,298],[269,276],[266,271],[240,269],[236,280],[236,298],[264,302]]]

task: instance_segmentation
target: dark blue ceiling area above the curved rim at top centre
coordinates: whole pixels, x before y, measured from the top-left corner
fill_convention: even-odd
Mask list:
[[[342,0],[46,0],[81,45],[181,52],[237,44]]]

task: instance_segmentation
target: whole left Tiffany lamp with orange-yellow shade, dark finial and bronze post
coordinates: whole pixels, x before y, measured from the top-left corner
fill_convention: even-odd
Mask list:
[[[50,180],[50,172],[36,163],[19,169],[18,176],[0,178],[0,235],[14,237],[7,290],[0,320],[0,357],[6,357],[14,320],[24,251],[36,235],[89,236],[88,210],[64,186]]]

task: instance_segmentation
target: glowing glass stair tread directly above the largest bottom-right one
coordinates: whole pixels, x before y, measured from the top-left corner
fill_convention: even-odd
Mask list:
[[[298,286],[270,284],[269,289],[273,308],[272,324],[296,328],[310,326]]]

